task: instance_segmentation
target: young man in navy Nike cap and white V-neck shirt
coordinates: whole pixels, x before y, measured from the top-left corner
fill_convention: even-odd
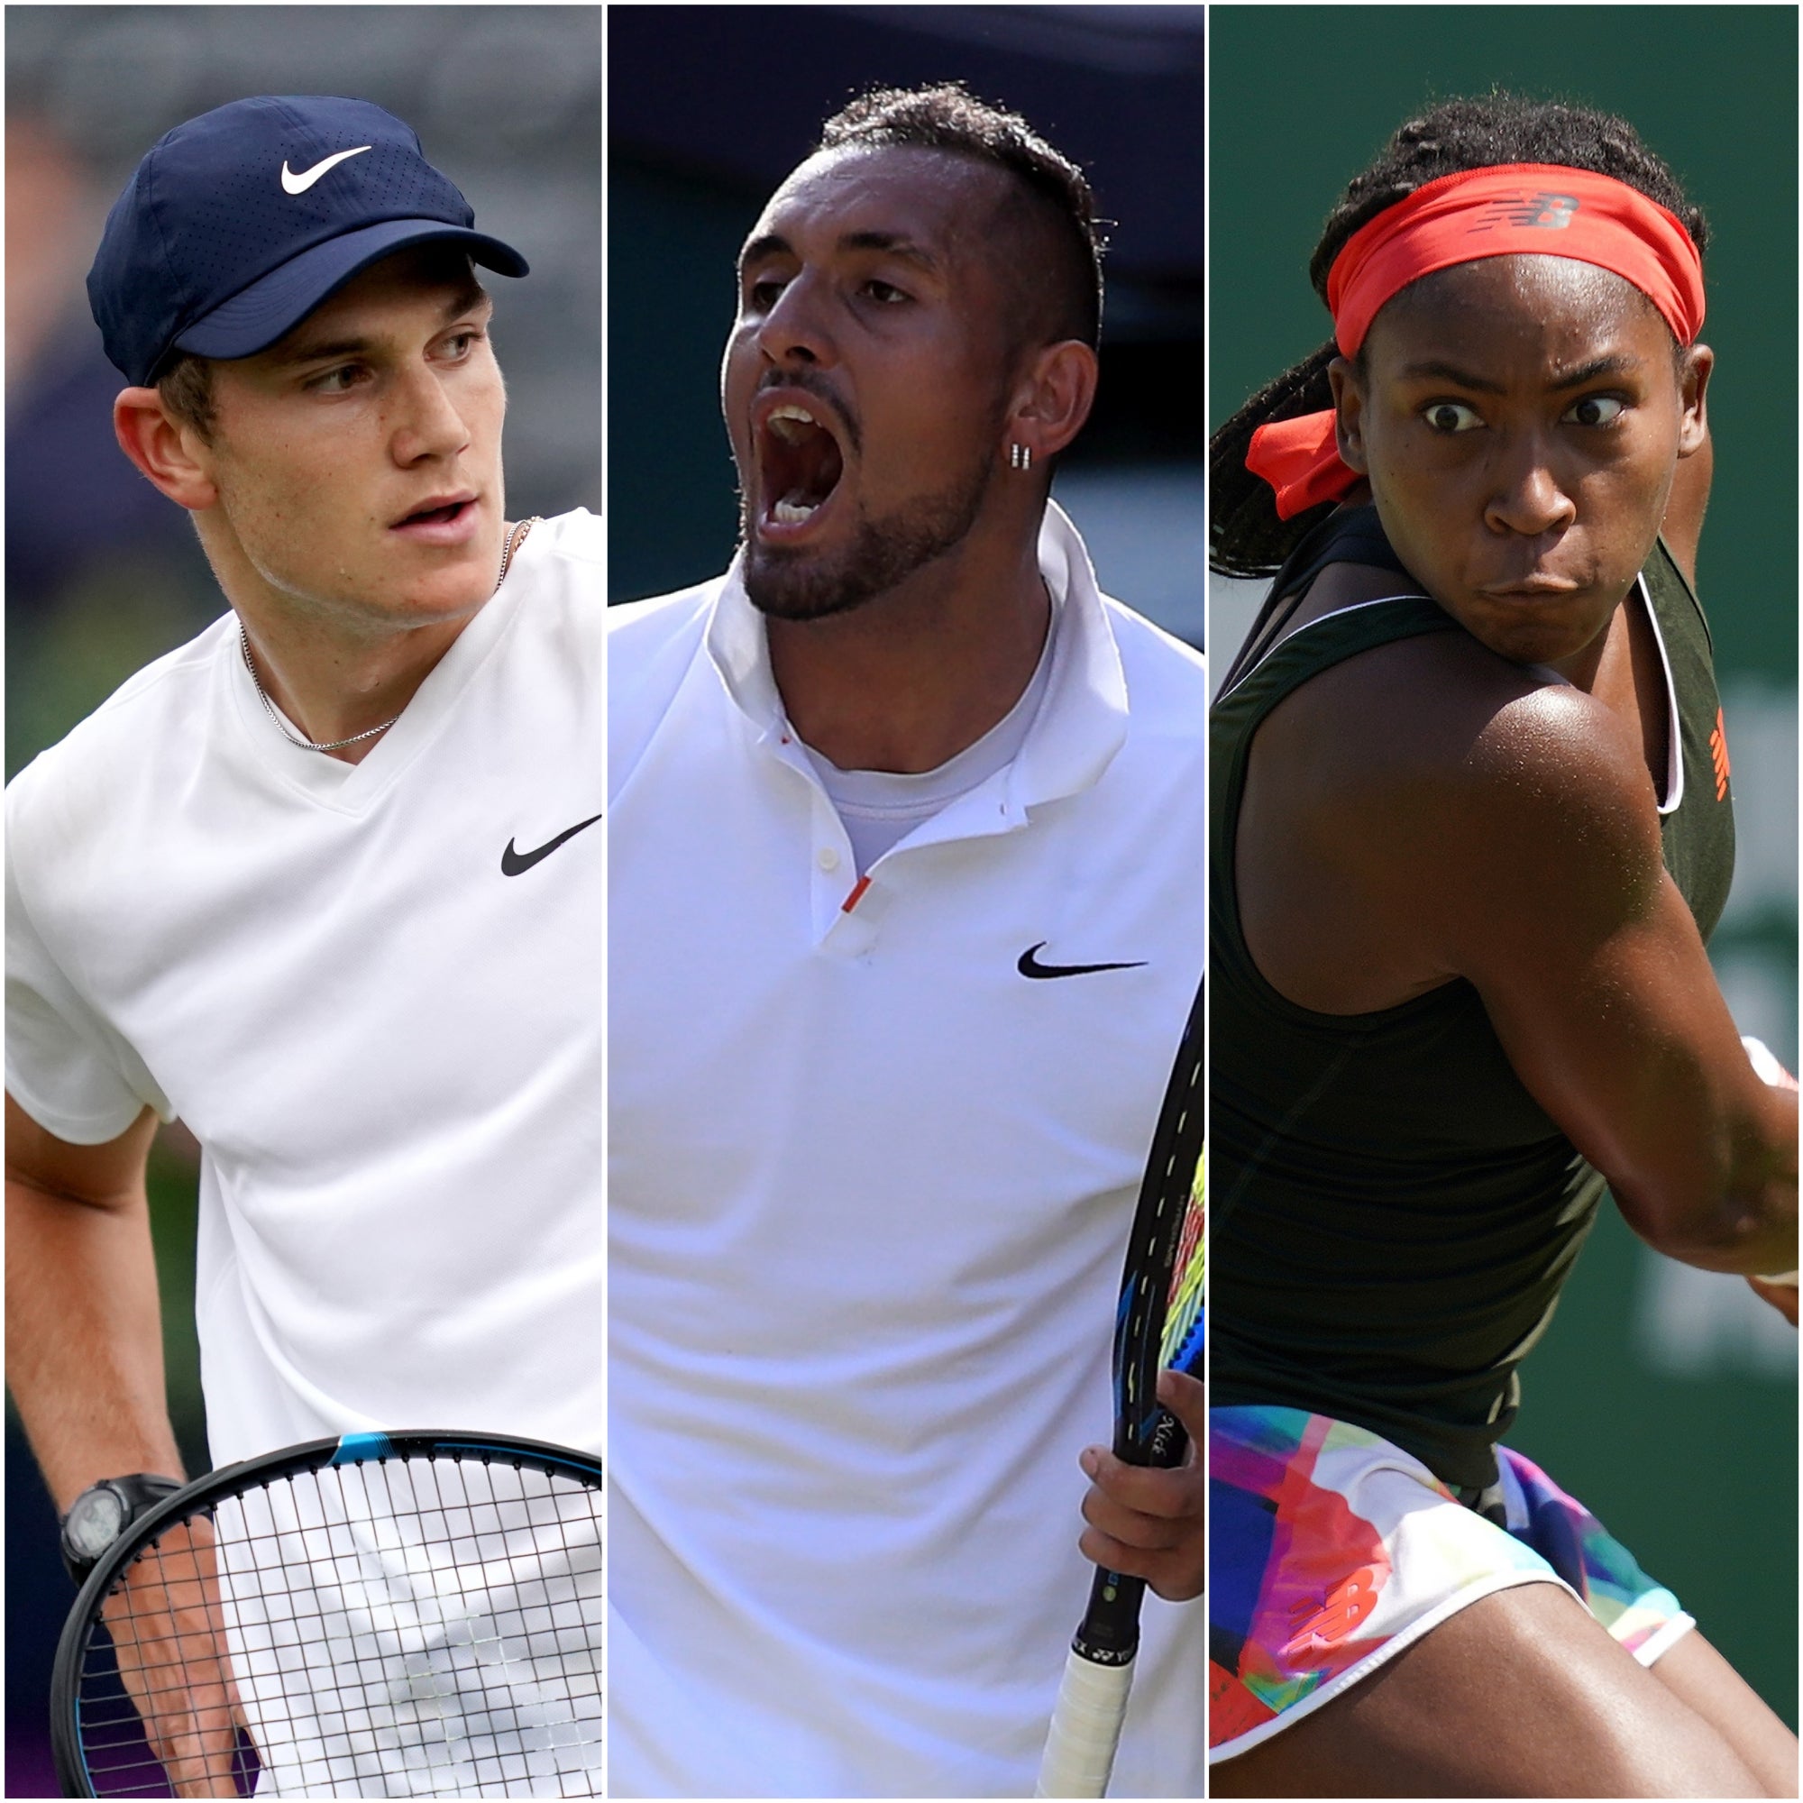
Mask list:
[[[178,1475],[159,1118],[204,1154],[215,1462],[406,1426],[599,1451],[600,561],[582,512],[505,516],[472,261],[526,274],[406,124],[299,96],[164,137],[88,276],[119,445],[231,611],[7,792],[7,1379],[78,1574]],[[316,1599],[409,1670],[265,1785],[599,1789],[593,1736],[554,1751],[555,1661],[498,1725],[433,1563]],[[252,1738],[305,1716],[238,1666]],[[197,1655],[151,1716],[186,1794],[229,1689]]]

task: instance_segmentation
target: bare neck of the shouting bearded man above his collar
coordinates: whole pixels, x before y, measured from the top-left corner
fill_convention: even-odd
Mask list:
[[[966,545],[822,620],[768,620],[790,723],[840,770],[938,770],[1026,692],[1051,599],[1033,537]]]

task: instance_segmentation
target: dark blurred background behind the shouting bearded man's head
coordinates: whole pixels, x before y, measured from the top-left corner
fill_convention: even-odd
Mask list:
[[[1055,494],[1102,586],[1201,644],[1199,5],[608,13],[609,599],[732,557],[718,371],[763,202],[853,94],[947,79],[1022,112],[1116,222],[1102,393]]]

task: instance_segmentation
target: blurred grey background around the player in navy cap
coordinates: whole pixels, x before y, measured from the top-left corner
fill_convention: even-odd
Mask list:
[[[83,288],[106,209],[182,119],[251,94],[348,94],[406,119],[532,265],[489,283],[514,517],[600,508],[599,5],[9,7],[5,81],[9,777],[224,608],[184,516],[114,445],[123,382]],[[151,1183],[177,1426],[206,1469],[180,1130]],[[5,1794],[54,1796],[49,1664],[74,1592],[11,1406],[5,1466]]]

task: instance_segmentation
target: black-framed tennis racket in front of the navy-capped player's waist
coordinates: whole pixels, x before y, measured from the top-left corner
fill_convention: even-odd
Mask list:
[[[600,1460],[350,1433],[227,1466],[88,1574],[63,1794],[600,1796]]]

